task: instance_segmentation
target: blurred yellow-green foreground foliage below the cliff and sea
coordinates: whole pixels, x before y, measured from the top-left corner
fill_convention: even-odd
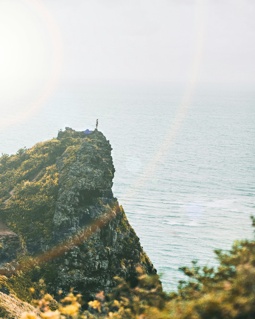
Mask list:
[[[177,293],[162,292],[157,275],[137,269],[135,287],[116,277],[111,293],[98,293],[88,304],[82,303],[80,295],[70,293],[59,302],[46,294],[35,305],[42,318],[54,319],[255,318],[255,241],[235,241],[228,253],[215,253],[220,262],[217,270],[200,268],[196,262],[191,268],[180,268],[189,279],[179,282]],[[37,317],[23,314],[23,319],[32,318]]]

